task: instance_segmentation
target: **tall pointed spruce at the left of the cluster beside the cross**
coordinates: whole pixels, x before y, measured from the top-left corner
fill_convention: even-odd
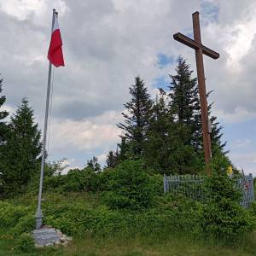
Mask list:
[[[131,101],[125,103],[126,112],[122,113],[125,123],[118,127],[124,131],[123,137],[129,143],[131,154],[137,158],[143,154],[143,145],[148,131],[153,102],[140,77],[130,87]]]

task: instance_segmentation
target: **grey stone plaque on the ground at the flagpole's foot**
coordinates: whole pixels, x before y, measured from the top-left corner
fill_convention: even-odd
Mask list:
[[[39,246],[54,244],[55,242],[59,242],[61,238],[57,234],[56,230],[52,228],[33,230],[32,236],[34,237],[36,244]]]

